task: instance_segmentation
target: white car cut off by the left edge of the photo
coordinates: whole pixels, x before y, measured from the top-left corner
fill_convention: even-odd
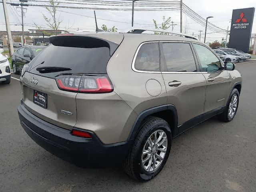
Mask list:
[[[9,84],[11,82],[11,68],[8,59],[1,53],[4,52],[0,49],[0,82]]]

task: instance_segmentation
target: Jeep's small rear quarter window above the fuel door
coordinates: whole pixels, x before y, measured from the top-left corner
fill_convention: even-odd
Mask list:
[[[160,71],[158,43],[147,43],[140,47],[134,67],[142,71]]]

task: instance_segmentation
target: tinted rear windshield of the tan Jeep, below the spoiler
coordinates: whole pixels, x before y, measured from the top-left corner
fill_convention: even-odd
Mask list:
[[[78,38],[79,40],[80,38]],[[95,39],[95,38],[91,38]],[[71,39],[69,39],[71,40]],[[49,78],[60,74],[104,74],[110,59],[110,44],[90,40],[50,44],[32,60],[30,72]],[[113,43],[114,44],[114,43]],[[58,46],[57,46],[58,45]],[[61,46],[59,46],[61,45]],[[115,46],[116,44],[112,45]],[[116,46],[117,47],[117,46]],[[37,68],[69,68],[67,71],[42,73]]]

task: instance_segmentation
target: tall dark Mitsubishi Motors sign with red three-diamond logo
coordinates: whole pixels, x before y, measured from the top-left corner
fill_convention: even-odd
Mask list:
[[[252,7],[233,10],[229,48],[240,49],[248,53],[252,33],[254,9],[255,8]]]

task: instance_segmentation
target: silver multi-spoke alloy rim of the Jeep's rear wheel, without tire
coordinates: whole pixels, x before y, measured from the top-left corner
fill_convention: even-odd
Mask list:
[[[164,160],[168,139],[163,130],[157,130],[150,135],[143,147],[141,155],[142,167],[146,172],[156,170]]]

